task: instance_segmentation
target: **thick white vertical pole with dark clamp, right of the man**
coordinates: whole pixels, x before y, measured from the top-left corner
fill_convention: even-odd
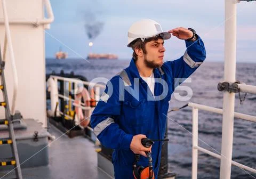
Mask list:
[[[236,78],[236,2],[225,0],[225,82]],[[220,178],[230,178],[233,149],[235,93],[223,94]]]

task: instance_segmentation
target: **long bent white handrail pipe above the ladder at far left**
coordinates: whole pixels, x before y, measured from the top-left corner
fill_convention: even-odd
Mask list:
[[[18,75],[17,75],[16,66],[15,66],[15,58],[14,58],[13,47],[12,47],[12,38],[11,38],[5,0],[2,0],[2,7],[3,7],[3,15],[4,15],[5,37],[6,37],[6,39],[4,40],[5,42],[4,60],[5,60],[6,44],[7,44],[9,48],[9,54],[10,54],[10,60],[12,63],[12,72],[13,72],[13,97],[12,97],[12,108],[11,108],[11,115],[13,116],[15,113],[15,107],[16,107],[16,101],[17,101]]]

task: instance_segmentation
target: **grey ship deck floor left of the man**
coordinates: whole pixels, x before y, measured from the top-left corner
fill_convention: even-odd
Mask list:
[[[83,136],[70,139],[51,124],[49,132],[56,137],[49,142],[49,165],[22,168],[23,179],[113,178],[98,168],[94,143]],[[14,170],[4,176],[7,172],[1,171],[0,178],[15,178]]]

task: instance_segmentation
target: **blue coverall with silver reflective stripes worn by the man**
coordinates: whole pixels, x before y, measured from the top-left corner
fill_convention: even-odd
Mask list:
[[[150,139],[163,139],[169,101],[177,78],[188,78],[205,60],[206,52],[202,39],[186,42],[185,55],[174,61],[166,61],[161,68],[153,70],[155,79],[165,80],[167,86],[155,81],[154,100],[147,83],[140,77],[134,59],[130,66],[107,83],[104,95],[93,110],[91,126],[95,135],[107,148],[114,149],[112,163],[115,178],[133,177],[134,153],[130,150],[133,135],[144,134]],[[181,80],[176,80],[181,83]],[[112,86],[111,86],[111,85]],[[108,88],[113,93],[108,94]],[[109,89],[110,89],[109,88]],[[166,90],[167,89],[167,90]],[[155,142],[151,149],[153,169],[157,178],[162,142]],[[146,157],[141,156],[138,165],[148,166]]]

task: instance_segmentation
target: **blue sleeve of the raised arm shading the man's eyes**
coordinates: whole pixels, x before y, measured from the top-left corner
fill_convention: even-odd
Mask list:
[[[193,74],[206,58],[204,43],[199,36],[195,42],[187,42],[186,40],[185,42],[187,47],[185,54],[177,60],[165,62],[162,66],[163,70],[167,71],[167,75],[171,78],[170,82],[172,84],[170,85],[173,90],[174,87],[177,87]]]

